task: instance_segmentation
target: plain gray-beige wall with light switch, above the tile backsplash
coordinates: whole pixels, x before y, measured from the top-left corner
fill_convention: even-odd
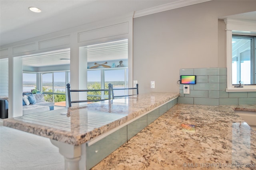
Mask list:
[[[218,18],[255,6],[256,1],[214,0],[134,18],[133,77],[140,93],[179,92],[181,68],[225,68],[225,24]]]

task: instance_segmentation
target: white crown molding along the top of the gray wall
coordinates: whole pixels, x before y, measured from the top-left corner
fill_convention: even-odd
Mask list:
[[[172,9],[176,9],[176,8],[181,8],[184,6],[199,4],[199,3],[207,2],[207,1],[210,1],[210,0],[178,0],[178,1],[171,2],[169,4],[164,4],[164,5],[156,6],[153,8],[136,11],[134,13],[133,18],[146,16],[146,15],[150,15],[150,14],[155,14],[158,12],[163,12],[163,11],[172,10]]]

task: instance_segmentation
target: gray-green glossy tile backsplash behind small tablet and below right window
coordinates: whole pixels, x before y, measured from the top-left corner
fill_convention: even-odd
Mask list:
[[[196,75],[196,84],[190,84],[190,94],[183,94],[180,84],[178,103],[201,105],[256,104],[256,92],[226,92],[227,68],[180,69],[180,75]]]

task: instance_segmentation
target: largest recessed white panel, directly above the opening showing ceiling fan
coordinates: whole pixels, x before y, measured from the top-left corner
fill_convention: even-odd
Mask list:
[[[129,23],[119,23],[98,29],[92,29],[78,33],[78,42],[91,41],[94,39],[101,39],[106,37],[113,37],[117,35],[124,35],[129,33]]]

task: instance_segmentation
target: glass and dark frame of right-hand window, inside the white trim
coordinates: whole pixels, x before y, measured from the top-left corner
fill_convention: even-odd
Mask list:
[[[253,74],[255,68],[255,36],[232,35],[232,84],[256,84]]]

